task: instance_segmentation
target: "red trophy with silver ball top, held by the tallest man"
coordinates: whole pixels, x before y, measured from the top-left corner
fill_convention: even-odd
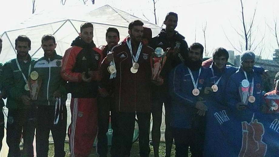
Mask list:
[[[166,53],[163,48],[157,47],[155,52],[151,54],[151,80],[153,82],[163,82],[163,78],[160,77],[160,73],[166,63]]]

